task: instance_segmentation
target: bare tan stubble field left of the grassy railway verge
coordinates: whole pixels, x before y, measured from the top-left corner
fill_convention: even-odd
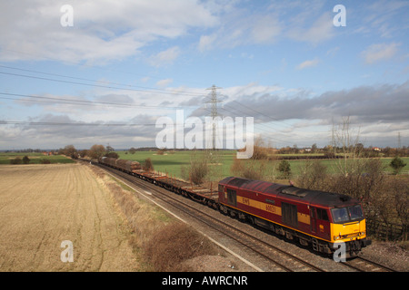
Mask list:
[[[0,167],[0,271],[135,271],[112,197],[80,164]],[[62,262],[64,240],[74,262]]]

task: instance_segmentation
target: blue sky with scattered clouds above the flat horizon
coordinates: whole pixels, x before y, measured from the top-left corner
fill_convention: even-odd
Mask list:
[[[404,0],[1,1],[0,150],[155,147],[161,117],[210,116],[213,85],[217,113],[253,117],[269,146],[324,147],[345,121],[364,146],[409,146],[408,14]]]

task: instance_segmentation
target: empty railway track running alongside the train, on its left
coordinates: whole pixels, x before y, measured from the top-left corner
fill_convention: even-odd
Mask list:
[[[197,208],[193,207],[186,204],[185,202],[180,201],[178,198],[175,198],[173,196],[175,195],[175,193],[171,193],[166,189],[158,188],[151,183],[145,182],[125,172],[111,169],[101,164],[95,163],[95,165],[110,171],[116,177],[125,179],[127,182],[132,183],[139,188],[149,190],[150,192],[155,192],[155,198],[161,199],[166,204],[171,205],[173,208],[177,208],[189,217],[195,218],[195,220],[199,221],[201,224],[205,224],[206,227],[212,228],[218,234],[223,234],[224,237],[233,239],[242,247],[255,253],[257,256],[261,256],[264,260],[274,265],[273,270],[275,271],[325,272],[324,269],[318,266],[314,266],[298,256],[287,253],[284,250],[275,247],[274,245],[267,243],[258,237],[254,237],[244,230],[238,227],[234,227],[219,218],[214,218],[213,215],[209,215],[205,213],[205,211],[199,209],[200,207],[203,207],[203,205],[197,205]]]

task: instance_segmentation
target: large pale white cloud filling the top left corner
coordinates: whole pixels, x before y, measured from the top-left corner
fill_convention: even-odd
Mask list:
[[[105,63],[139,53],[160,37],[182,37],[216,17],[194,1],[73,0],[74,26],[63,27],[59,1],[1,1],[0,61]]]

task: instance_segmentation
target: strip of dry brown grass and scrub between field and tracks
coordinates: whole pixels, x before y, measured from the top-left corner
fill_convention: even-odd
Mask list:
[[[196,256],[213,256],[216,247],[207,238],[169,217],[161,208],[137,198],[133,189],[108,177],[98,168],[95,173],[113,194],[115,204],[132,230],[129,244],[139,257],[142,271],[189,271],[184,262]]]

